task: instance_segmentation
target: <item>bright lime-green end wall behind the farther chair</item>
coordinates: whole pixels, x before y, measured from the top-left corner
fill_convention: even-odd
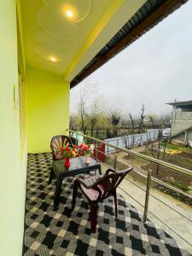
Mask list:
[[[63,77],[26,67],[26,122],[29,153],[49,152],[51,137],[69,124],[70,85]]]

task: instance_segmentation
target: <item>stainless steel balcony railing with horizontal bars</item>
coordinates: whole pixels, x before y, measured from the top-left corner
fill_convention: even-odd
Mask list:
[[[116,145],[113,145],[112,143],[107,143],[105,141],[102,141],[102,140],[99,140],[95,137],[90,137],[90,136],[87,136],[87,135],[84,135],[82,132],[79,132],[79,131],[72,131],[72,130],[67,130],[69,132],[69,135],[71,137],[76,137],[77,140],[78,140],[78,136],[81,136],[81,137],[84,137],[86,140],[90,140],[91,142],[96,142],[96,160],[98,160],[98,154],[105,154],[106,153],[108,154],[108,150],[106,152],[103,153],[101,150],[99,150],[98,148],[98,145],[100,144],[104,144],[106,145],[108,148],[114,148],[116,150],[116,153],[119,153],[120,151],[121,152],[125,152],[127,154],[131,154],[133,156],[136,156],[138,158],[141,158],[143,160],[148,160],[150,163],[154,163],[156,165],[159,165],[159,166],[164,166],[170,170],[172,170],[173,172],[178,172],[178,173],[182,173],[182,174],[185,174],[189,177],[192,177],[192,171],[189,170],[189,169],[186,169],[186,168],[183,168],[183,167],[180,167],[180,166],[174,166],[170,163],[167,163],[163,160],[157,160],[157,159],[154,159],[148,155],[145,155],[145,154],[141,154],[141,153],[138,153],[138,152],[135,152],[135,151],[132,151],[130,149],[126,149],[126,148],[121,148],[119,146],[116,146]],[[108,157],[110,158],[110,156],[108,155]],[[118,164],[118,154],[115,154],[114,155],[114,159],[113,159],[113,168],[116,169],[117,167],[117,164]],[[108,164],[106,164],[105,162],[102,162],[102,165],[105,165],[105,166],[108,166]],[[108,167],[111,167],[111,166],[108,166]],[[133,166],[134,167],[134,166]],[[142,189],[143,191],[145,191],[145,202],[144,204],[142,204],[141,202],[137,201],[136,198],[134,198],[132,195],[130,195],[129,193],[127,193],[127,191],[125,191],[125,189],[122,189],[120,188],[122,191],[124,191],[124,193],[126,195],[129,195],[131,197],[132,200],[136,201],[138,205],[140,205],[141,207],[144,208],[144,212],[143,212],[143,222],[146,222],[147,220],[147,216],[148,216],[148,212],[154,216],[154,218],[157,218],[162,224],[166,225],[166,227],[169,229],[169,230],[172,230],[173,233],[175,233],[180,239],[182,239],[184,242],[186,242],[191,248],[192,248],[192,243],[191,241],[187,241],[182,235],[180,235],[176,230],[174,230],[169,224],[165,223],[161,218],[159,218],[154,212],[151,212],[148,210],[148,201],[149,201],[149,197],[152,196],[154,197],[156,200],[160,201],[161,203],[163,203],[164,205],[166,205],[166,207],[169,207],[172,209],[172,211],[174,212],[177,212],[177,214],[179,214],[182,218],[185,218],[186,220],[189,221],[189,223],[191,224],[192,223],[192,219],[191,218],[188,218],[187,216],[183,215],[182,212],[178,212],[176,209],[172,208],[169,206],[169,204],[167,204],[165,201],[161,201],[160,198],[156,197],[155,195],[151,194],[150,193],[150,187],[151,187],[151,182],[153,181],[154,183],[157,183],[157,184],[160,184],[160,185],[163,185],[164,187],[166,187],[167,189],[171,189],[172,191],[174,192],[177,192],[179,194],[182,194],[186,197],[189,198],[189,200],[192,200],[192,196],[183,192],[181,189],[177,189],[175,187],[173,187],[171,184],[168,184],[168,183],[165,183],[163,181],[161,181],[160,179],[156,178],[156,177],[152,177],[151,176],[151,170],[148,169],[148,173],[146,173],[145,171],[142,171],[141,169],[137,169],[136,167],[134,167],[133,169],[135,172],[137,172],[138,174],[142,174],[143,176],[147,177],[147,186],[146,186],[146,189],[143,189],[141,186],[139,186],[137,183],[134,183],[134,182],[131,182],[131,180],[127,179],[126,180],[129,182],[129,183],[132,183],[134,186],[137,187],[137,189]]]

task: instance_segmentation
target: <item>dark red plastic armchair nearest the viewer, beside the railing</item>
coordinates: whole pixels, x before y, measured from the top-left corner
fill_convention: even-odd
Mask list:
[[[116,189],[119,183],[122,182],[128,172],[131,172],[133,167],[130,167],[124,171],[114,171],[108,169],[105,175],[92,175],[89,177],[79,177],[75,179],[73,186],[73,201],[72,209],[75,207],[76,195],[78,188],[87,198],[90,204],[90,230],[96,232],[96,213],[98,209],[98,203],[113,195],[115,205],[115,217],[118,216],[117,211],[117,194]],[[110,173],[112,172],[112,173]],[[109,174],[110,173],[110,174]]]

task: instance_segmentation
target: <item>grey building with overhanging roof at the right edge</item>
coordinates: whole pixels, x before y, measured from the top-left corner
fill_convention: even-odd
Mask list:
[[[166,103],[173,107],[171,138],[192,144],[192,101]]]

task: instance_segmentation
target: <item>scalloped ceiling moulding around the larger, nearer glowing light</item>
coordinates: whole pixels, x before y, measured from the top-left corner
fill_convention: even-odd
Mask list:
[[[38,10],[38,23],[44,32],[49,37],[60,41],[77,38],[78,23],[89,15],[91,0],[42,1],[44,5]],[[39,41],[39,43],[43,42]]]

